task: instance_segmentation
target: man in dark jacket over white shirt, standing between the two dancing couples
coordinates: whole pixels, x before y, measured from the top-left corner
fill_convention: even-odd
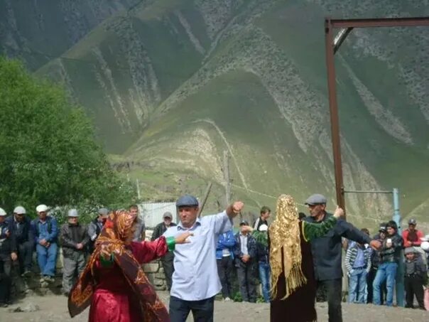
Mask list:
[[[249,226],[249,222],[243,220],[240,227]],[[256,288],[254,283],[254,262],[256,261],[256,240],[247,230],[241,230],[235,235],[235,266],[241,298],[244,302],[256,302]]]

